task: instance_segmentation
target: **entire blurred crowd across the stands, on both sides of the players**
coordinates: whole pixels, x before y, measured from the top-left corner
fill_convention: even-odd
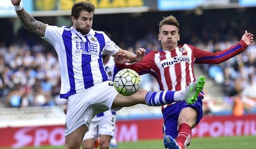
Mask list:
[[[168,14],[169,15],[169,14]],[[175,15],[175,14],[174,14]],[[149,15],[150,16],[150,15]],[[163,16],[167,16],[164,15]],[[180,44],[192,44],[199,49],[218,51],[227,49],[241,39],[244,30],[255,32],[255,22],[247,20],[221,20],[215,24],[213,20],[197,20],[190,23],[192,17],[180,17],[176,15],[181,23]],[[180,17],[180,18],[179,18]],[[132,19],[132,18],[131,18]],[[145,17],[147,20],[147,16]],[[161,17],[159,17],[161,20]],[[104,20],[103,20],[104,21]],[[136,22],[134,20],[133,22]],[[216,21],[216,20],[215,20]],[[220,20],[219,20],[220,21]],[[143,21],[142,21],[143,22]],[[157,22],[154,20],[154,23]],[[125,22],[127,23],[127,22]],[[153,30],[152,25],[143,26],[143,34],[137,31],[130,31],[131,25],[119,25],[120,31],[105,28],[111,34],[113,41],[123,49],[135,52],[135,49],[144,47],[147,52],[161,49],[158,41],[158,30]],[[145,22],[143,22],[145,23]],[[189,24],[190,23],[190,24]],[[198,25],[198,23],[203,25]],[[105,24],[106,25],[106,24]],[[155,23],[155,25],[157,25]],[[139,25],[140,26],[140,25]],[[96,26],[95,30],[103,26]],[[59,65],[58,58],[53,47],[49,46],[42,39],[34,36],[24,38],[24,29],[21,28],[17,36],[6,44],[0,40],[0,99],[5,107],[29,107],[45,105],[62,105],[66,101],[59,99]],[[135,33],[135,34],[132,34]],[[138,34],[136,34],[138,33]],[[121,36],[122,34],[122,36]],[[1,39],[1,38],[0,38]],[[217,84],[223,87],[226,103],[233,107],[235,99],[243,101],[246,109],[256,107],[256,44],[255,41],[245,52],[237,57],[231,58],[220,65],[200,65]],[[147,75],[143,76],[142,87],[148,90],[157,90],[155,80]],[[218,95],[213,95],[218,96]]]

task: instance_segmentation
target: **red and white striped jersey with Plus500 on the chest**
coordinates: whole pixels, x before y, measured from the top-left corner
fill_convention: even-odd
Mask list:
[[[158,81],[161,91],[179,91],[195,81],[194,63],[221,63],[240,54],[246,47],[247,44],[241,40],[229,49],[213,53],[182,44],[173,50],[151,51],[142,61],[132,65],[118,66],[131,68],[139,74],[152,74]]]

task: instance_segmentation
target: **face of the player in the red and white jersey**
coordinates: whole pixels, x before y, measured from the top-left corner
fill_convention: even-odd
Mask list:
[[[174,25],[163,25],[158,34],[158,40],[161,42],[163,50],[171,50],[177,47],[180,39],[179,30]]]

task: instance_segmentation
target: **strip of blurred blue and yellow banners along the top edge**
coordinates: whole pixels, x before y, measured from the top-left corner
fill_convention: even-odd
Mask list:
[[[148,12],[150,10],[221,9],[254,7],[254,0],[87,0],[95,4],[95,14]],[[25,9],[34,16],[69,15],[73,0],[27,0]],[[0,0],[0,17],[16,17],[11,1]]]

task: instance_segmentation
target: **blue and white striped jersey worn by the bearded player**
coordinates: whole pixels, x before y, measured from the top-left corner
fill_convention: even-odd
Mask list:
[[[82,35],[73,27],[48,25],[46,39],[53,45],[61,69],[61,98],[108,80],[101,54],[114,55],[119,47],[103,31]]]

